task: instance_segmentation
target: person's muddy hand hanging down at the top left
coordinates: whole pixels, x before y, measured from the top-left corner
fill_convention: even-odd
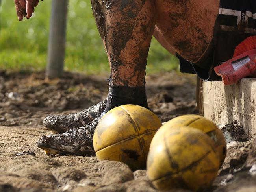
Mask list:
[[[18,19],[22,21],[23,17],[27,19],[31,17],[35,11],[34,7],[38,5],[39,0],[14,0],[14,2]]]

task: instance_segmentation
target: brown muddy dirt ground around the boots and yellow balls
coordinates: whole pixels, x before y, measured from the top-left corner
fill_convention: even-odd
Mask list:
[[[43,72],[0,72],[0,191],[155,192],[146,170],[96,157],[50,157],[36,146],[51,132],[49,114],[75,113],[106,98],[107,75],[66,73],[46,81]],[[147,76],[150,108],[162,122],[195,109],[195,76],[166,72]],[[209,191],[256,192],[256,146],[236,121],[221,125],[228,155]],[[177,190],[175,190],[177,191]],[[185,191],[185,190],[180,190]]]

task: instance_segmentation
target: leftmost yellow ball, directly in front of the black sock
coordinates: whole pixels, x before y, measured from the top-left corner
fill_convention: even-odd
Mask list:
[[[111,109],[98,123],[93,147],[100,161],[121,161],[132,170],[146,167],[150,142],[161,126],[152,111],[138,105]]]

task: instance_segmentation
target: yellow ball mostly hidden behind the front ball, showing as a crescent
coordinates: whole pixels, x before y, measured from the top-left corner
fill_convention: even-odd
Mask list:
[[[169,120],[157,131],[156,135],[152,139],[152,143],[161,140],[163,134],[167,133],[167,130],[181,126],[189,126],[195,129],[200,129],[201,131],[209,135],[214,141],[214,146],[219,153],[220,166],[223,164],[226,157],[226,140],[224,138],[224,135],[222,131],[212,121],[200,115],[188,114],[178,116],[176,118],[173,118],[172,120]]]

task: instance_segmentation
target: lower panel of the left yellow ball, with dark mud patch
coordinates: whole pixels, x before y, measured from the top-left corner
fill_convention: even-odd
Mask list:
[[[97,151],[96,156],[100,161],[113,160],[124,162],[132,170],[145,167],[143,144],[138,136],[107,146]]]

